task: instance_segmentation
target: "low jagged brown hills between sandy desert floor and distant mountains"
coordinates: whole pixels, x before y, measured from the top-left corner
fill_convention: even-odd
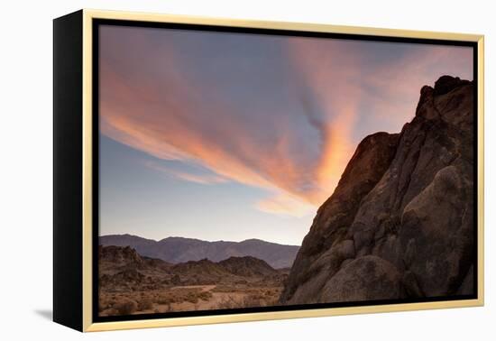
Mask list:
[[[278,284],[287,276],[287,270],[276,270],[265,261],[252,256],[230,257],[221,262],[207,258],[199,261],[171,264],[160,259],[142,256],[130,246],[98,247],[100,288],[150,290],[171,285],[214,285],[248,281]]]

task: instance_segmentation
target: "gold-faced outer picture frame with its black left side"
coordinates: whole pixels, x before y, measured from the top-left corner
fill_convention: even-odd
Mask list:
[[[95,322],[93,318],[94,300],[94,279],[93,267],[95,259],[93,258],[95,239],[93,234],[93,150],[94,138],[92,136],[93,124],[92,111],[95,108],[93,101],[94,88],[92,69],[95,62],[93,51],[93,30],[95,20],[116,20],[126,22],[146,22],[146,23],[181,23],[181,24],[197,24],[197,25],[214,25],[237,28],[250,29],[273,29],[284,30],[291,32],[324,32],[324,33],[340,33],[346,35],[361,35],[372,37],[395,37],[409,39],[428,39],[442,41],[470,41],[476,44],[477,49],[477,298],[473,300],[439,300],[428,302],[411,302],[400,304],[384,304],[372,306],[358,307],[339,307],[339,308],[317,308],[317,309],[298,309],[298,310],[281,310],[267,312],[246,312],[227,315],[208,315],[195,317],[178,317],[178,318],[151,318],[139,320],[122,320],[111,322]],[[483,179],[484,179],[484,164],[483,164],[483,35],[463,34],[451,32],[422,32],[409,30],[392,30],[381,28],[367,28],[354,26],[339,26],[319,23],[286,23],[286,22],[266,22],[253,20],[239,20],[228,18],[209,18],[197,17],[189,15],[170,15],[170,14],[145,14],[131,12],[115,12],[115,11],[99,11],[99,10],[81,10],[76,14],[56,19],[54,30],[54,111],[55,120],[71,120],[69,117],[60,118],[60,115],[73,115],[72,121],[69,124],[76,124],[80,134],[75,136],[75,139],[82,138],[79,141],[81,148],[80,154],[74,157],[80,157],[80,163],[75,164],[75,169],[81,167],[79,174],[63,173],[57,171],[57,160],[62,161],[64,156],[63,151],[58,152],[58,140],[55,139],[55,164],[56,174],[54,179],[59,181],[55,183],[55,222],[54,222],[54,320],[69,327],[74,327],[80,331],[103,331],[129,328],[144,328],[144,327],[170,327],[170,326],[187,326],[197,324],[214,324],[227,322],[241,321],[256,321],[267,319],[281,318],[313,318],[323,316],[348,315],[348,314],[363,314],[377,312],[392,312],[405,310],[420,310],[420,309],[445,309],[445,308],[463,308],[482,306],[484,302],[484,266],[483,266]],[[73,31],[70,31],[73,30]],[[63,31],[63,32],[62,32]],[[71,33],[72,32],[72,33]],[[71,35],[72,34],[72,35]],[[75,38],[76,37],[76,38]],[[71,49],[77,46],[76,49]],[[71,52],[68,52],[71,49]],[[65,54],[64,54],[65,53]],[[68,54],[69,53],[69,54]],[[72,54],[71,54],[72,53]],[[66,66],[66,69],[60,67],[60,63],[64,56],[80,56],[78,62],[80,68],[74,65]],[[475,61],[475,60],[474,60]],[[69,62],[69,61],[68,61]],[[76,67],[78,67],[76,62]],[[62,68],[58,70],[59,68]],[[65,71],[66,70],[66,71]],[[66,73],[64,73],[66,72]],[[72,72],[72,73],[70,73]],[[80,84],[80,88],[71,88],[67,83],[62,87],[59,83],[63,82],[62,78],[68,77],[67,73],[73,75],[74,84]],[[60,78],[58,78],[60,77]],[[65,78],[64,78],[65,79]],[[70,80],[69,82],[72,82]],[[79,83],[80,82],[80,83]],[[80,92],[78,92],[80,90]],[[67,91],[72,91],[72,95],[68,95]],[[65,96],[65,97],[64,97]],[[63,102],[62,97],[72,98],[73,101]],[[60,102],[62,101],[62,102]],[[78,113],[69,113],[80,109]],[[80,113],[80,114],[79,114]],[[82,118],[82,120],[81,120]],[[60,126],[55,123],[55,134],[58,134],[58,129],[66,129],[68,122],[61,122]],[[63,136],[62,136],[63,137]],[[62,138],[60,137],[60,138]],[[66,136],[67,137],[67,136]],[[70,140],[69,140],[70,141]],[[60,141],[59,141],[60,142]],[[57,153],[58,152],[58,153]],[[58,156],[59,155],[59,156]],[[59,158],[59,159],[58,159]],[[77,185],[80,189],[80,201],[76,200],[69,203],[64,201],[62,193],[63,189],[58,186],[65,186],[68,181],[74,181],[74,176],[80,176]],[[58,196],[59,195],[59,196]],[[70,200],[69,200],[70,201]],[[72,207],[64,207],[64,205],[73,205]],[[80,205],[80,206],[78,206]],[[59,212],[65,209],[68,217],[59,217]],[[69,209],[69,211],[67,211]],[[78,211],[78,215],[71,215],[70,212]],[[77,217],[76,217],[77,216]],[[66,219],[66,220],[64,220]],[[71,220],[72,219],[72,220]],[[64,223],[65,222],[65,223]],[[64,224],[62,224],[64,223]],[[70,226],[69,226],[69,225]],[[72,229],[72,226],[77,226]],[[71,231],[64,231],[72,229]],[[74,231],[76,231],[74,233]],[[71,235],[70,235],[71,234]],[[66,245],[67,247],[65,247]],[[75,246],[77,245],[77,246]],[[70,250],[68,250],[70,249]],[[78,255],[79,254],[79,255]],[[71,280],[66,277],[71,277],[68,272],[69,263],[75,263],[74,272],[77,274]],[[80,274],[80,275],[79,275]],[[73,282],[71,282],[73,281]],[[74,282],[80,282],[74,287]],[[72,285],[72,289],[67,289]],[[75,303],[76,302],[76,303]],[[80,309],[77,314],[68,317],[69,306]],[[80,313],[80,314],[79,314]]]

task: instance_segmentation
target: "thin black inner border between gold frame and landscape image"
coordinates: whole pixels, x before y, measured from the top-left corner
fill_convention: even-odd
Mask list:
[[[403,43],[418,43],[430,45],[450,45],[464,46],[473,48],[473,295],[453,295],[442,297],[429,297],[404,300],[367,300],[367,301],[350,301],[338,303],[314,303],[303,305],[288,305],[288,306],[271,306],[271,307],[254,307],[243,309],[212,309],[212,310],[191,310],[177,311],[168,313],[153,313],[139,314],[126,316],[101,317],[98,316],[98,233],[99,233],[99,26],[100,25],[115,25],[128,27],[143,27],[143,28],[161,28],[172,30],[189,30],[203,32],[234,32],[262,35],[278,35],[278,36],[293,36],[293,37],[309,37],[309,38],[327,38],[327,39],[344,39],[352,41],[382,41],[382,42],[403,42]],[[200,316],[215,316],[215,315],[230,315],[243,313],[260,313],[274,311],[298,311],[303,309],[329,309],[329,308],[344,308],[344,307],[365,307],[390,304],[404,303],[420,303],[420,302],[435,302],[435,301],[451,301],[451,300],[476,300],[478,298],[478,49],[476,41],[450,41],[436,40],[423,38],[402,38],[402,37],[387,37],[387,36],[372,36],[366,34],[349,34],[349,33],[332,33],[332,32],[303,32],[293,30],[280,29],[261,29],[261,28],[246,28],[219,26],[207,24],[192,24],[192,23],[152,23],[133,20],[115,20],[115,19],[92,19],[92,225],[93,225],[93,252],[92,252],[92,320],[93,322],[115,322],[127,320],[142,320],[142,319],[158,319],[158,318],[186,318]]]

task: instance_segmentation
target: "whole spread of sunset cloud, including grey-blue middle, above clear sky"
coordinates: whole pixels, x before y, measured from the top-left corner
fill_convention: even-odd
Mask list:
[[[154,168],[177,180],[266,189],[258,209],[295,217],[332,194],[365,135],[400,131],[421,85],[472,68],[452,47],[381,60],[357,41],[115,26],[100,41],[102,134],[213,174]]]

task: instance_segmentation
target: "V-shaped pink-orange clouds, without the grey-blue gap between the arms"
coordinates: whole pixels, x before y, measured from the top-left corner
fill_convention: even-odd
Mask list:
[[[283,113],[267,112],[262,126],[250,116],[237,115],[240,107],[216,93],[215,85],[188,77],[173,46],[154,48],[139,33],[131,41],[133,60],[126,60],[124,53],[129,41],[102,45],[104,53],[115,49],[112,55],[122,64],[105,59],[100,63],[101,132],[159,159],[197,163],[216,174],[200,177],[152,167],[180,180],[201,184],[231,180],[267,189],[271,195],[256,207],[297,217],[315,210],[334,190],[359,142],[355,129],[363,131],[362,137],[375,133],[362,126],[363,115],[380,121],[393,116],[395,122],[384,124],[384,130],[396,128],[413,116],[416,99],[412,97],[418,97],[419,83],[435,80],[430,68],[445,64],[445,69],[455,70],[469,65],[468,57],[453,59],[448,48],[433,47],[371,69],[343,41],[287,39],[281,44],[300,83],[288,88],[295,97],[302,97],[299,91],[305,88],[309,102],[319,109],[313,112],[308,106],[300,114],[320,139],[308,142],[299,140],[298,127]],[[140,51],[151,49],[155,54],[150,62],[161,66],[156,75],[141,72],[140,65],[129,69],[135,60],[146,65],[149,57]],[[374,97],[367,88],[381,96]],[[407,99],[390,101],[401,97]],[[363,102],[370,112],[363,112]],[[308,143],[319,144],[319,153],[315,160],[302,162],[294,149]]]

